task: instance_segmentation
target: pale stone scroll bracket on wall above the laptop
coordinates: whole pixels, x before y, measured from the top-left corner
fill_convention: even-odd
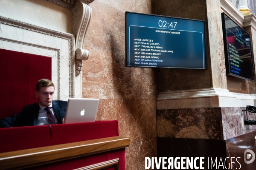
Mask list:
[[[90,23],[92,8],[88,5],[94,0],[77,0],[76,6],[72,9],[73,13],[73,34],[76,37],[76,76],[83,68],[83,61],[89,58],[89,51],[84,49],[84,37]]]

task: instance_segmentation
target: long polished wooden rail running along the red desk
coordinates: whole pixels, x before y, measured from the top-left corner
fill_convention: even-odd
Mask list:
[[[130,145],[130,139],[115,136],[27,150],[0,153],[1,170],[22,169],[56,161],[116,150]],[[15,162],[15,164],[13,164]]]

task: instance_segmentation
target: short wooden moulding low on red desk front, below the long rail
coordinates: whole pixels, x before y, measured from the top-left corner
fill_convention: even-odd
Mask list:
[[[109,167],[114,167],[115,170],[119,170],[119,159],[112,159],[110,161],[101,162],[99,164],[93,164],[86,167],[80,167],[74,170],[103,170]]]

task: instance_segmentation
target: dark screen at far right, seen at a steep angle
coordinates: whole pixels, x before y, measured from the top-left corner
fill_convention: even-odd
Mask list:
[[[221,18],[227,74],[254,81],[250,34],[226,14]]]

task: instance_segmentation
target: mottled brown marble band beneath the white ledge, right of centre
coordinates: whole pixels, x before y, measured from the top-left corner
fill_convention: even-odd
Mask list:
[[[157,110],[157,137],[227,140],[256,129],[246,108],[190,108]]]

